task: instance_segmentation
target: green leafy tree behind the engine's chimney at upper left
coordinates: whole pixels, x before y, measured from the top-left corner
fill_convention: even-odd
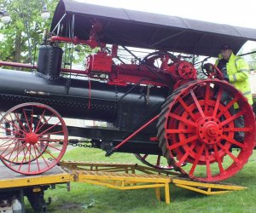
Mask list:
[[[44,28],[50,20],[41,18],[44,4],[51,17],[58,0],[0,0],[0,6],[11,17],[9,24],[0,23],[0,60],[30,63],[38,44],[42,42]]]

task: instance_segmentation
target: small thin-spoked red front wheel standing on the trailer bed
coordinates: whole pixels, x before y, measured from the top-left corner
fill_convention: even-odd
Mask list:
[[[67,126],[53,108],[24,103],[0,120],[0,158],[24,175],[41,174],[57,164],[67,149]]]

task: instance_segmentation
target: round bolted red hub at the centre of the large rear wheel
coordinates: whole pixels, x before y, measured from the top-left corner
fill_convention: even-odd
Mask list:
[[[203,118],[197,126],[197,134],[199,135],[199,140],[206,144],[217,143],[223,133],[222,127],[218,124],[220,124],[220,122],[217,118]]]

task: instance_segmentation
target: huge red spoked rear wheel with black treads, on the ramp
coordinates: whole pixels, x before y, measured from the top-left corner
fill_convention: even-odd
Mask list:
[[[234,114],[236,104],[240,112]],[[238,118],[244,119],[244,126],[236,126]],[[236,140],[238,132],[245,133],[243,141]],[[218,79],[189,83],[163,105],[158,138],[176,170],[199,181],[221,181],[241,170],[253,153],[253,110],[229,83]],[[184,162],[189,164],[181,168]]]

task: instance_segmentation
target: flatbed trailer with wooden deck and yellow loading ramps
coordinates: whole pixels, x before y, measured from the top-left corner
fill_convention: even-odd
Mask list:
[[[55,189],[56,185],[66,184],[70,191],[72,182],[98,185],[118,190],[155,190],[159,201],[171,203],[170,190],[172,186],[206,195],[217,195],[246,189],[237,185],[225,183],[207,183],[192,181],[180,176],[174,171],[156,169],[139,164],[102,163],[83,161],[61,161],[52,170],[37,176],[23,176],[0,165],[3,175],[0,180],[0,212],[25,213],[24,198],[28,199],[34,212],[48,212],[47,206],[51,198],[44,199],[44,192]],[[86,187],[86,186],[84,186]],[[160,190],[164,190],[161,197]],[[72,190],[72,189],[71,189]]]

